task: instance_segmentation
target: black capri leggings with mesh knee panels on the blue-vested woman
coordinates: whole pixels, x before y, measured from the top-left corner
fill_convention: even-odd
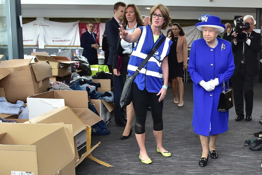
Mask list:
[[[151,114],[153,118],[153,129],[154,131],[163,130],[163,100],[158,102],[160,96],[157,93],[147,92],[146,89],[140,91],[136,83],[132,83],[132,101],[136,113],[136,134],[145,133],[145,123],[147,117],[147,104],[150,104]]]

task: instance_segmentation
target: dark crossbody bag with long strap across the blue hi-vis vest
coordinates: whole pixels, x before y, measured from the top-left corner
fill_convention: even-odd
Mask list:
[[[166,39],[165,36],[163,36],[160,39],[160,41],[157,43],[156,47],[153,47],[150,54],[147,55],[147,58],[144,59],[144,61],[140,64],[140,66],[136,69],[136,72],[134,72],[134,74],[132,76],[126,75],[126,82],[125,82],[125,85],[124,85],[124,88],[122,90],[122,94],[121,94],[121,97],[120,97],[121,108],[124,107],[124,106],[127,106],[131,103],[131,101],[132,101],[132,96],[131,96],[132,82],[136,78],[136,75],[140,72],[140,70],[147,63],[147,61],[152,57],[152,55],[157,51],[157,49],[164,42],[165,39]]]

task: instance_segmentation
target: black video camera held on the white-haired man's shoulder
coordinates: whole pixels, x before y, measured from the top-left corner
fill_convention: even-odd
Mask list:
[[[233,31],[236,31],[237,35],[234,37],[232,35],[232,38],[236,38],[237,42],[244,42],[246,41],[246,33],[242,33],[242,31],[247,30],[250,28],[250,23],[245,23],[243,24],[243,16],[240,15],[235,15],[234,16],[234,29]]]

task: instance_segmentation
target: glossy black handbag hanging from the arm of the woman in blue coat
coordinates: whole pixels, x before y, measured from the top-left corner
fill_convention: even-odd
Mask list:
[[[225,91],[226,84],[226,91]],[[229,89],[225,80],[223,81],[223,91],[219,96],[219,103],[217,110],[220,112],[226,112],[233,107],[232,89]]]

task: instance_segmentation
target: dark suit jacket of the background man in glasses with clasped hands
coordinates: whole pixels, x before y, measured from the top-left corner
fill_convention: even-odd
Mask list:
[[[97,38],[95,33],[94,37]],[[98,65],[97,50],[91,46],[92,44],[96,44],[94,37],[86,31],[82,33],[80,40],[81,47],[84,48],[82,55],[88,59],[90,65]]]

